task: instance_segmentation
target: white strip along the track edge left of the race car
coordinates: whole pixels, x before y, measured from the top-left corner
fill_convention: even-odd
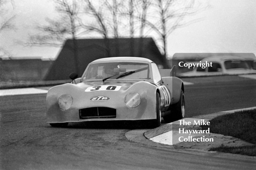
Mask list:
[[[36,88],[4,89],[4,90],[0,90],[0,96],[42,94],[42,93],[47,93],[47,92],[48,92],[48,90],[36,89]]]

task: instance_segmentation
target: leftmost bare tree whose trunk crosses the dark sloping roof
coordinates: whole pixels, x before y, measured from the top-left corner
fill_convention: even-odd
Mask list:
[[[37,25],[39,33],[30,35],[27,45],[31,46],[61,46],[67,39],[72,39],[70,49],[74,52],[75,69],[79,73],[78,44],[77,37],[81,32],[79,0],[52,0],[55,3],[55,10],[60,14],[58,18],[46,18],[47,25]]]

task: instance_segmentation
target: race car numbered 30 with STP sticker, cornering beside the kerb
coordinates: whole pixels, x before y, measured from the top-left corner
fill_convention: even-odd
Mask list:
[[[169,123],[185,115],[184,85],[147,58],[111,57],[91,62],[81,78],[54,86],[46,97],[47,123],[66,127],[69,122],[148,120]]]

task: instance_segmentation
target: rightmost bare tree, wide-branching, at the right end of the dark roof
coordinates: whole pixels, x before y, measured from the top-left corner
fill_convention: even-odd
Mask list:
[[[148,27],[153,29],[162,44],[164,60],[167,57],[167,37],[176,29],[185,27],[189,24],[198,22],[200,19],[190,21],[184,20],[186,16],[194,15],[205,7],[195,5],[195,0],[177,1],[177,0],[155,0],[154,16],[151,14],[150,19],[145,19]]]

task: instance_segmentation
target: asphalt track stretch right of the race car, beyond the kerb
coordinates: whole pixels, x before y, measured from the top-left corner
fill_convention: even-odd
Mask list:
[[[185,117],[256,106],[256,80],[238,76],[183,78]]]

